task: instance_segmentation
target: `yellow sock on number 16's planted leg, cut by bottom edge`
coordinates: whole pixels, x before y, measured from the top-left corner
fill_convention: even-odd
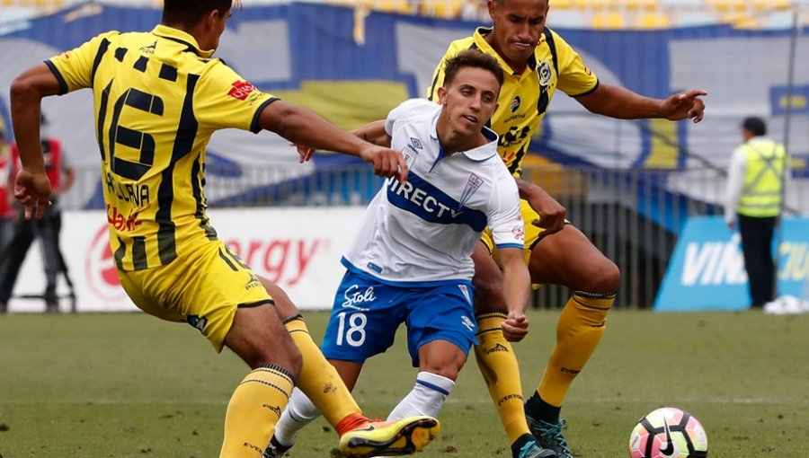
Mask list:
[[[261,457],[292,393],[292,378],[278,366],[262,366],[236,387],[225,414],[219,458]]]

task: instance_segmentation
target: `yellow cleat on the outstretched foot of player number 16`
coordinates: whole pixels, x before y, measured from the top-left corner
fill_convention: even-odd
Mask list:
[[[360,458],[413,454],[430,444],[440,428],[437,419],[423,415],[395,421],[372,421],[342,435],[340,451],[345,456]]]

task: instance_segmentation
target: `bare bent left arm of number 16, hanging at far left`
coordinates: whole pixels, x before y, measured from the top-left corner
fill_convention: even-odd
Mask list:
[[[42,99],[59,93],[60,86],[48,66],[32,66],[11,85],[11,115],[14,139],[22,169],[17,173],[14,198],[25,207],[25,218],[42,217],[50,204],[50,181],[45,175],[45,158],[40,144]]]

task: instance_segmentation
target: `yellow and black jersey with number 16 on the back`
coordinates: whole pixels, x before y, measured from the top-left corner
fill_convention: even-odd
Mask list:
[[[206,216],[205,146],[221,128],[258,132],[277,100],[191,35],[164,25],[110,31],[46,61],[61,92],[93,89],[110,245],[119,269],[170,263],[216,231]]]

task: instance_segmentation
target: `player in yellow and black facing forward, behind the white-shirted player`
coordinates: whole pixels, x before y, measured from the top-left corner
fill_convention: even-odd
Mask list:
[[[443,84],[444,62],[461,49],[477,48],[496,57],[506,73],[492,128],[500,135],[498,150],[517,179],[523,198],[524,254],[531,280],[566,286],[573,295],[559,318],[556,348],[542,381],[523,406],[519,368],[507,340],[520,339],[522,333],[515,330],[527,327],[528,322],[515,321],[502,312],[501,274],[494,261],[497,252],[484,237],[473,255],[480,341],[476,357],[512,451],[528,440],[530,430],[540,445],[553,449],[559,457],[570,458],[573,454],[562,435],[564,421],[559,419],[559,412],[573,378],[598,346],[620,272],[582,232],[566,224],[564,207],[537,185],[520,180],[521,162],[557,89],[587,110],[612,118],[694,122],[703,117],[705,104],[699,97],[707,92],[693,90],[653,99],[600,84],[578,53],[546,27],[548,0],[488,0],[488,10],[493,28],[479,28],[472,37],[449,46],[427,96],[435,99],[437,88]]]

